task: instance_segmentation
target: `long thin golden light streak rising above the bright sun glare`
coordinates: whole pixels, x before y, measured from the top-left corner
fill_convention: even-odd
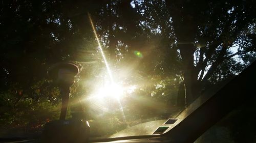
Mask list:
[[[91,22],[91,25],[92,25],[92,28],[93,28],[93,33],[94,33],[95,38],[96,38],[96,40],[97,40],[98,48],[99,48],[99,50],[100,50],[102,59],[103,59],[103,61],[104,61],[104,63],[105,63],[106,70],[108,71],[109,77],[110,77],[110,80],[111,80],[111,83],[113,84],[113,83],[114,83],[114,80],[113,80],[113,76],[112,76],[112,73],[111,73],[111,70],[110,70],[108,61],[106,61],[105,54],[104,54],[104,52],[103,52],[103,50],[102,50],[102,47],[101,47],[99,38],[98,38],[98,36],[97,36],[97,32],[96,32],[95,26],[94,26],[94,24],[93,24],[93,20],[92,20],[91,15],[90,15],[89,13],[88,13],[88,17],[89,17],[89,19],[90,19],[90,22]]]

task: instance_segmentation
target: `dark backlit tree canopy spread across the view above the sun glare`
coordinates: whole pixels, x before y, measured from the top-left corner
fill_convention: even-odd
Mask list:
[[[253,0],[1,1],[0,106],[16,112],[27,99],[30,106],[58,105],[47,76],[57,62],[83,67],[79,81],[97,78],[105,67],[89,15],[113,71],[123,68],[131,82],[150,80],[141,94],[164,101],[182,83],[178,96],[190,103],[255,60],[255,6]],[[90,93],[78,79],[75,85],[73,96]]]

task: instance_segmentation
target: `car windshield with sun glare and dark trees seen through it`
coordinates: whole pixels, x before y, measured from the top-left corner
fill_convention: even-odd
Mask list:
[[[59,120],[64,84],[91,138],[161,134],[255,61],[254,3],[2,1],[0,138]]]

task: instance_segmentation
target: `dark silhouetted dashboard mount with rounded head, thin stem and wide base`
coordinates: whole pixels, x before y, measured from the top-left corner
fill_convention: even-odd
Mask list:
[[[45,125],[41,142],[88,142],[90,135],[88,121],[65,120],[70,87],[78,73],[79,68],[73,63],[58,63],[49,68],[49,77],[60,89],[62,105],[59,120]]]

